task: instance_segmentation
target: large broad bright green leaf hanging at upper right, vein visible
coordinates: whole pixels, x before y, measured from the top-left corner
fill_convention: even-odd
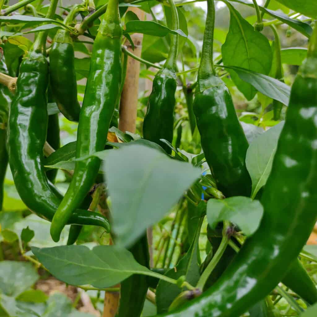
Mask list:
[[[255,31],[229,2],[225,3],[230,9],[230,28],[221,49],[223,64],[267,75],[272,65],[272,51],[268,39]],[[229,73],[244,96],[248,100],[253,99],[257,92],[256,88],[243,81],[236,72],[229,70]]]

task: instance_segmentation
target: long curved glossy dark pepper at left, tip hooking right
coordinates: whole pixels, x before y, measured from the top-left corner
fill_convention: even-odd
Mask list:
[[[16,94],[9,112],[7,146],[16,189],[24,204],[38,216],[52,220],[62,195],[49,183],[42,161],[47,131],[49,69],[42,52],[31,51],[22,61]],[[97,225],[109,231],[100,214],[76,210],[68,224]]]

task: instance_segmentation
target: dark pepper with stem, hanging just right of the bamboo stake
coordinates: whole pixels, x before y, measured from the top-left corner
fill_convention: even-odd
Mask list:
[[[177,9],[173,1],[168,2],[171,6],[172,27],[177,30],[179,29]],[[173,35],[166,62],[154,77],[153,89],[143,122],[144,139],[159,144],[167,153],[171,153],[171,149],[160,139],[170,143],[173,140],[177,53],[178,35]]]

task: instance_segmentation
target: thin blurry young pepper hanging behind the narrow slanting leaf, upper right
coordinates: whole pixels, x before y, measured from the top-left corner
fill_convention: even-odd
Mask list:
[[[283,67],[282,67],[282,58],[281,58],[281,42],[280,42],[280,37],[277,33],[277,30],[274,25],[271,25],[271,29],[273,30],[274,33],[274,38],[275,38],[275,65],[276,65],[276,71],[274,74],[274,78],[280,80],[281,82],[284,82],[283,77]],[[274,120],[280,120],[281,117],[281,111],[283,109],[283,104],[281,101],[278,100],[273,100],[273,112],[274,112]]]

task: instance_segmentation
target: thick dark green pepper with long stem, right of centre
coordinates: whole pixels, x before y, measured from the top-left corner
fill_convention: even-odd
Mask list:
[[[215,8],[208,1],[208,14],[193,104],[201,146],[218,189],[226,197],[250,196],[251,178],[245,157],[249,147],[236,115],[232,97],[215,74],[212,61]]]

